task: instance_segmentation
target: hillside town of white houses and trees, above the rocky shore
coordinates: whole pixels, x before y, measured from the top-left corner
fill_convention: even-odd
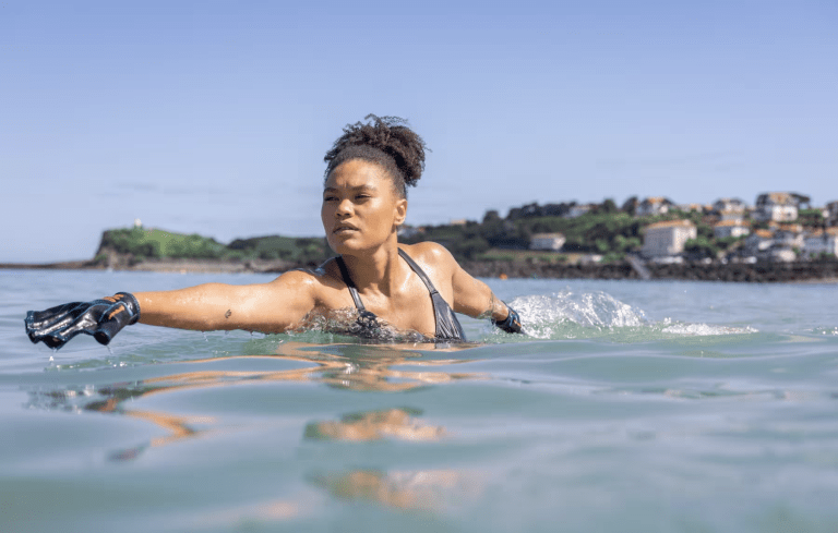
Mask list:
[[[452,231],[456,226],[462,230]],[[626,256],[651,264],[790,263],[838,256],[838,201],[812,206],[803,194],[770,192],[753,205],[740,198],[675,204],[666,197],[632,197],[621,207],[610,199],[529,204],[505,219],[488,211],[482,222],[454,220],[447,228],[405,227],[400,233],[408,242],[443,241],[468,259],[526,249],[586,263]]]

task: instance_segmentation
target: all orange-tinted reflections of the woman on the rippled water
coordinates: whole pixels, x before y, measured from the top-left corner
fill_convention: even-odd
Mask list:
[[[403,392],[462,379],[486,378],[482,374],[451,372],[450,368],[444,368],[468,362],[469,360],[456,358],[454,353],[466,348],[469,346],[324,346],[283,342],[277,347],[276,353],[272,354],[232,355],[145,366],[144,370],[158,371],[158,375],[142,380],[107,386],[64,386],[59,389],[31,390],[27,407],[75,413],[111,413],[142,420],[163,429],[160,436],[109,455],[112,461],[132,461],[148,449],[231,431],[236,424],[227,412],[222,426],[212,414],[190,416],[143,409],[144,404],[139,400],[170,392],[272,381],[318,383],[330,388],[363,393]],[[272,362],[276,362],[276,366],[284,370],[270,370],[274,366]],[[288,363],[297,367],[288,368]],[[172,366],[179,372],[167,373]],[[194,370],[181,372],[184,366],[193,366]],[[260,370],[253,370],[255,367]],[[264,370],[265,367],[268,370]],[[130,372],[130,368],[124,372]],[[74,378],[76,376],[79,375],[74,375]],[[412,407],[338,412],[335,419],[316,420],[306,424],[301,428],[300,438],[307,446],[319,446],[318,443],[324,441],[369,443],[384,439],[435,443],[451,435],[445,427],[422,421],[421,415],[421,410]],[[451,508],[452,502],[470,499],[468,496],[479,493],[481,486],[474,474],[455,470],[339,469],[303,475],[309,487],[325,498],[374,502],[399,510],[441,511]],[[311,495],[301,497],[298,493],[290,499],[219,509],[218,513],[214,514],[214,520],[216,524],[236,524],[242,520],[287,520],[299,517],[300,513],[316,512],[307,504],[310,498]]]

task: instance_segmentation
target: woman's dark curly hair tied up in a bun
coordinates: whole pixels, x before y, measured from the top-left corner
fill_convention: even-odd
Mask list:
[[[368,122],[347,124],[344,134],[326,152],[325,179],[340,163],[363,159],[381,165],[393,178],[399,196],[407,197],[407,185],[416,186],[422,177],[424,152],[430,149],[404,119],[368,114],[363,120]]]

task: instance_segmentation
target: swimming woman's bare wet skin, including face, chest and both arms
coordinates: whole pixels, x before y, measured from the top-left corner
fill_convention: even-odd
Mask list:
[[[419,264],[457,313],[503,319],[506,306],[460,268],[443,246],[399,244],[407,199],[387,171],[350,159],[324,184],[321,219],[330,246],[340,254],[364,305],[402,330],[435,332],[433,305],[421,279],[398,256],[399,247]],[[288,271],[268,283],[206,283],[165,292],[139,292],[143,324],[183,329],[246,329],[283,332],[306,327],[313,315],[355,310],[335,261],[314,271]]]

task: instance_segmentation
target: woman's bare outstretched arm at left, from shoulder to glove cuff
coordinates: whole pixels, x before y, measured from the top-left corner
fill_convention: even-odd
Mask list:
[[[140,322],[202,331],[247,329],[283,332],[300,325],[316,304],[315,277],[292,270],[270,283],[205,283],[188,289],[134,293]]]

